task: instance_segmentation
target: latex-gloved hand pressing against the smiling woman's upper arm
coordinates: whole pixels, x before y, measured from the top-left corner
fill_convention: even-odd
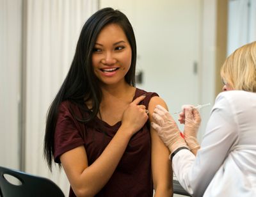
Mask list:
[[[151,126],[157,131],[157,134],[169,148],[171,154],[177,148],[182,146],[188,147],[186,141],[180,136],[180,130],[176,122],[164,107],[157,105],[152,117],[156,123],[152,122]]]

